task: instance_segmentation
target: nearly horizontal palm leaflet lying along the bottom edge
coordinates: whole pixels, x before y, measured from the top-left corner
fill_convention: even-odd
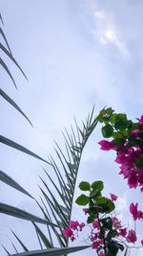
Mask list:
[[[87,249],[91,246],[74,246],[74,247],[65,247],[65,248],[52,248],[52,249],[44,249],[44,250],[33,250],[28,252],[11,254],[11,256],[62,256],[67,255],[79,250]]]

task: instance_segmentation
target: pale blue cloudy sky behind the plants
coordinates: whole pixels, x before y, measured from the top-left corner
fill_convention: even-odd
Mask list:
[[[13,107],[1,100],[1,134],[48,159],[54,140],[62,143],[61,130],[70,129],[73,116],[83,120],[95,105],[95,114],[105,105],[129,118],[143,114],[143,1],[142,0],[0,0],[4,32],[14,58],[28,80],[9,61],[17,83],[16,91],[4,70],[1,86],[31,119],[33,128]],[[130,222],[128,205],[139,201],[138,191],[130,190],[118,176],[115,155],[99,150],[100,126],[95,128],[83,153],[77,178],[105,182],[105,193],[119,196],[121,219]],[[1,170],[39,197],[39,175],[46,164],[19,151],[0,145]],[[78,188],[75,198],[79,195]],[[40,215],[34,202],[0,183],[2,202]],[[72,218],[81,220],[82,210],[73,205]],[[12,251],[10,229],[28,246],[32,227],[28,221],[0,216],[0,243]],[[139,225],[139,224],[138,224]],[[141,229],[138,226],[141,240]],[[10,239],[9,239],[10,238]],[[12,240],[14,241],[14,240]],[[78,244],[83,244],[82,238]],[[14,241],[15,243],[15,241]],[[89,249],[74,255],[94,255]],[[5,252],[0,248],[0,254]],[[137,250],[135,255],[141,256]],[[134,251],[131,253],[134,255]]]

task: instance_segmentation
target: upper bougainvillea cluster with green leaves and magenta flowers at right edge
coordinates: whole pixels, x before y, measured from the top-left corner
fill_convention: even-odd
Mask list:
[[[133,123],[125,114],[113,112],[111,107],[100,111],[98,120],[105,124],[102,134],[112,137],[112,141],[101,140],[98,144],[102,151],[116,151],[119,175],[128,179],[131,189],[139,186],[143,191],[143,115]]]

